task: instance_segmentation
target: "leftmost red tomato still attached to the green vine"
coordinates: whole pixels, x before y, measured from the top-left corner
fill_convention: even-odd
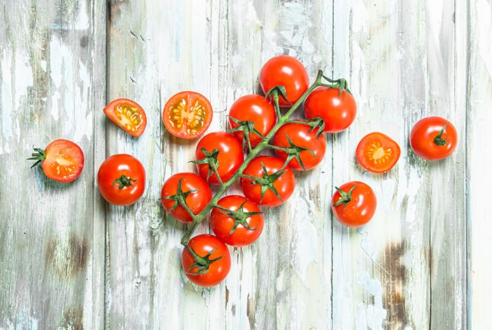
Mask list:
[[[200,213],[212,199],[212,190],[209,185],[195,173],[176,173],[167,179],[162,186],[161,202],[164,209],[176,220],[190,223],[193,218],[179,203],[179,188],[186,205],[194,214]]]

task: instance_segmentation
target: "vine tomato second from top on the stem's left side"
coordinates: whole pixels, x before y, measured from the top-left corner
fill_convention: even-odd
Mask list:
[[[229,111],[229,124],[231,125],[232,130],[237,130],[233,132],[234,136],[242,141],[245,133],[244,130],[246,130],[246,132],[249,132],[247,133],[247,136],[250,139],[251,146],[256,147],[261,143],[263,138],[257,133],[248,131],[247,126],[243,126],[243,131],[241,131],[238,128],[241,126],[238,121],[242,123],[252,121],[254,130],[262,136],[267,136],[277,122],[277,114],[273,103],[257,94],[241,96],[231,106],[231,110]]]

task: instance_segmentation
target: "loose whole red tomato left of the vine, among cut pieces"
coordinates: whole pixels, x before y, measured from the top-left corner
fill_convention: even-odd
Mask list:
[[[129,154],[113,154],[98,171],[98,189],[111,204],[134,204],[145,191],[145,169]]]

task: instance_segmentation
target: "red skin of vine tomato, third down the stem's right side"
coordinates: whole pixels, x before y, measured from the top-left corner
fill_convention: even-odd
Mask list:
[[[266,167],[266,172],[268,174],[276,173],[279,169],[282,168],[284,162],[282,159],[278,157],[271,156],[259,156],[254,158],[250,164],[246,166],[245,171],[242,173],[247,176],[261,177],[263,176],[263,169],[261,168],[261,163]],[[261,199],[261,186],[260,185],[252,185],[252,181],[250,178],[241,178],[241,189],[242,193],[245,194],[247,199],[250,199],[252,202],[262,205],[262,206],[279,206],[289,199],[294,192],[295,187],[295,178],[294,172],[287,166],[285,168],[285,173],[280,176],[275,183],[273,183],[273,187],[277,190],[279,196],[282,200],[278,199],[273,192],[270,190],[266,190],[263,199]]]

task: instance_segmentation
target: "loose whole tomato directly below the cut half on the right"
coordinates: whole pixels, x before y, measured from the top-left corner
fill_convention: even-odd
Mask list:
[[[344,183],[332,197],[335,218],[348,227],[361,227],[373,218],[376,212],[376,194],[360,181]]]

